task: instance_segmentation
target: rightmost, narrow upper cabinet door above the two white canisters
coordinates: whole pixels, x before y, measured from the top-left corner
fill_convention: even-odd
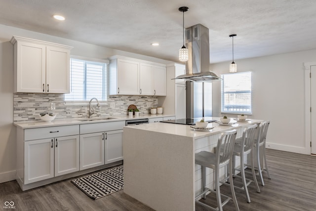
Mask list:
[[[154,95],[165,96],[167,94],[166,87],[166,68],[154,67]]]

